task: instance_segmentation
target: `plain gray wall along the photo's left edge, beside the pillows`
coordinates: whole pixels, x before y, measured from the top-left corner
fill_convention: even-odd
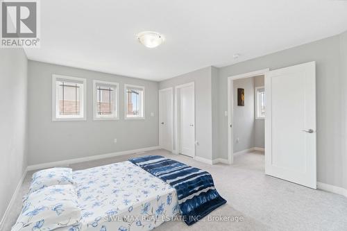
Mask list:
[[[0,49],[0,219],[27,164],[27,66],[22,49]]]

